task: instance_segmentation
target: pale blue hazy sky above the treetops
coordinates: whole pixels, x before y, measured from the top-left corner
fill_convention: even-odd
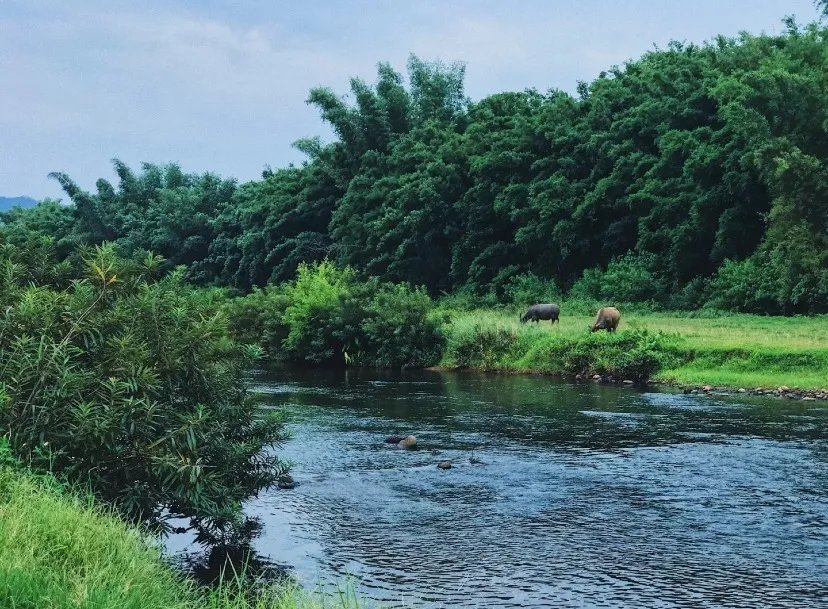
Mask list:
[[[177,162],[240,181],[299,163],[330,129],[315,86],[373,83],[411,53],[466,64],[477,100],[574,92],[671,40],[779,33],[811,0],[0,0],[0,196],[64,198],[47,174],[94,188],[110,159]]]

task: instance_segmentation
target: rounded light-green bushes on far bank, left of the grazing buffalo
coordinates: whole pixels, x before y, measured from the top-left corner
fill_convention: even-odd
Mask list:
[[[437,362],[440,320],[422,289],[362,281],[325,260],[227,305],[231,329],[271,356],[312,364],[421,368]]]

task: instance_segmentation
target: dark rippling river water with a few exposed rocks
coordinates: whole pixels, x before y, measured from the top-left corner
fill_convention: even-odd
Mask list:
[[[309,586],[353,576],[409,607],[828,607],[824,403],[428,371],[255,382],[289,413],[299,483],[247,506],[255,548]],[[409,433],[418,450],[384,443]]]

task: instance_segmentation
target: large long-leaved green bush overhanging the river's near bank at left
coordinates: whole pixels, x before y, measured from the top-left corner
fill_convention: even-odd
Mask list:
[[[240,502],[282,469],[265,450],[281,423],[249,399],[255,353],[229,338],[215,298],[181,269],[158,277],[158,257],[133,263],[111,245],[75,273],[58,264],[34,278],[15,262],[32,252],[11,248],[0,260],[0,427],[12,452],[130,518],[232,528]]]

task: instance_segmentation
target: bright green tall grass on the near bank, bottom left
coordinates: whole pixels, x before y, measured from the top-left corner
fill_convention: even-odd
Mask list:
[[[2,446],[0,446],[2,448]],[[0,450],[0,452],[2,452]],[[2,455],[0,455],[2,456]],[[0,461],[2,461],[0,459]],[[196,588],[160,549],[92,501],[0,465],[0,607],[15,609],[357,609],[295,587],[251,598],[243,584]]]

